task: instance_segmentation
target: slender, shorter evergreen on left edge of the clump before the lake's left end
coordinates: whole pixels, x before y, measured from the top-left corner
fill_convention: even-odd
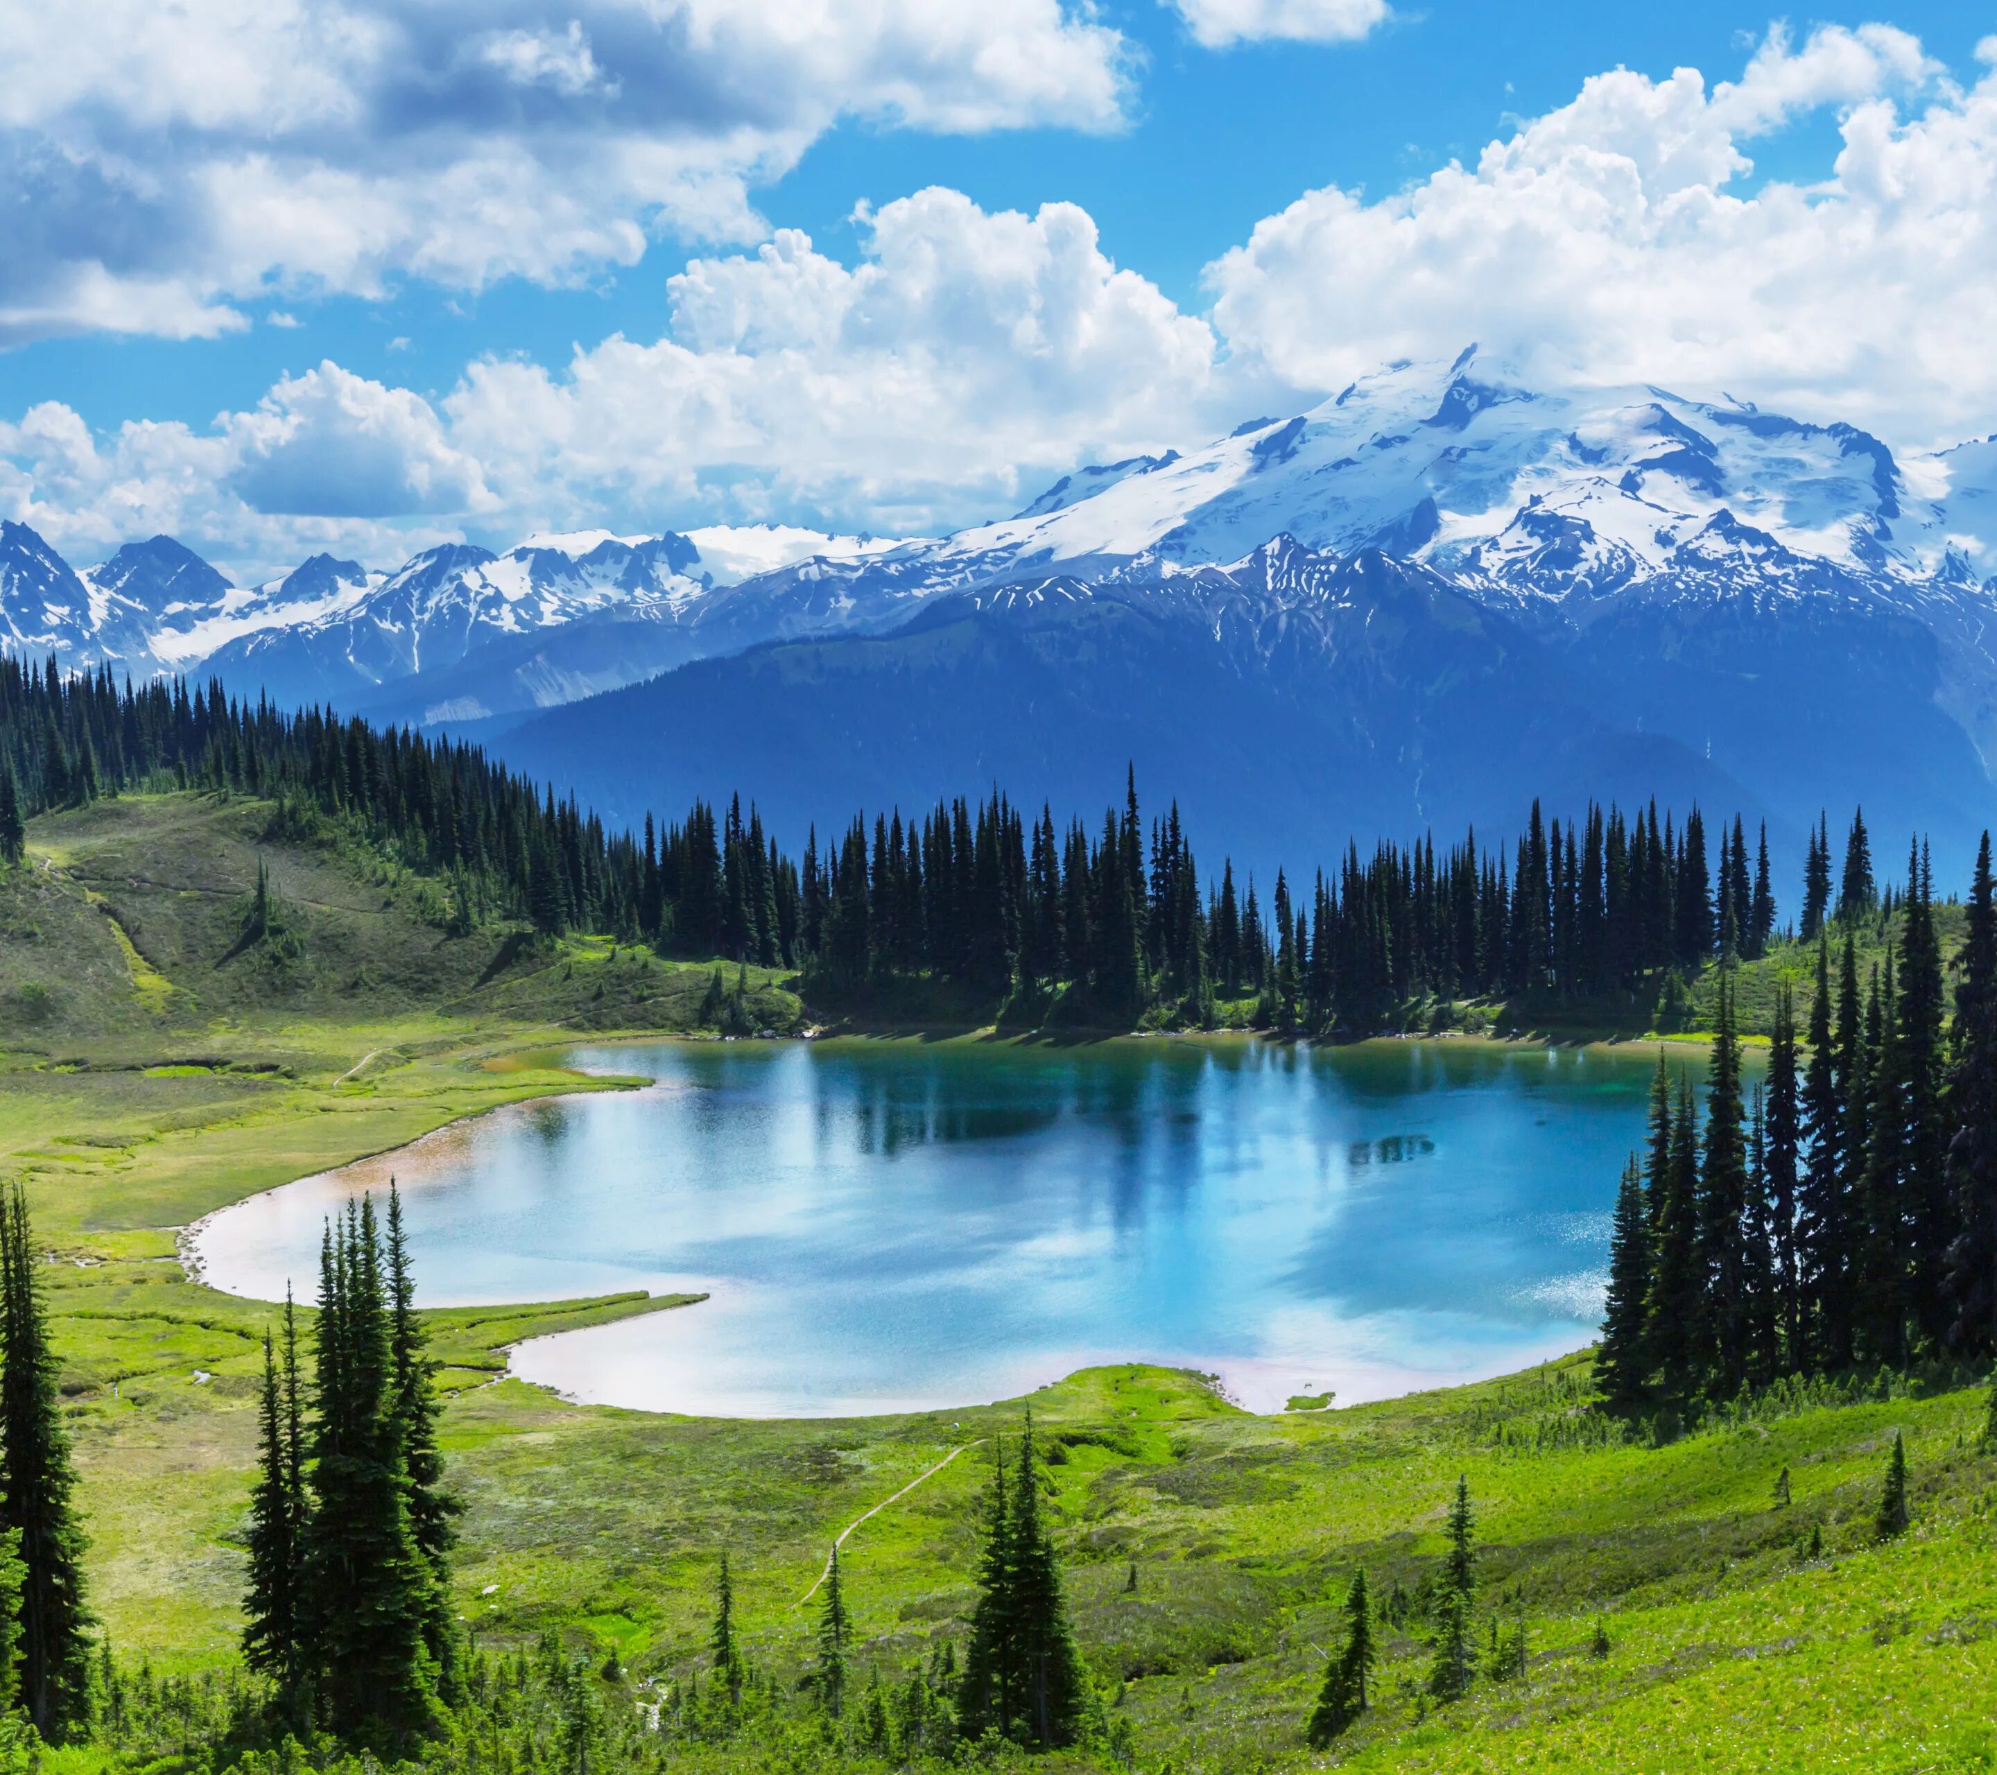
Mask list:
[[[250,1493],[250,1589],[244,1597],[244,1663],[286,1697],[304,1681],[304,1557],[310,1531],[298,1398],[298,1320],[284,1300],[282,1358],[264,1334],[258,1392],[258,1481]]]

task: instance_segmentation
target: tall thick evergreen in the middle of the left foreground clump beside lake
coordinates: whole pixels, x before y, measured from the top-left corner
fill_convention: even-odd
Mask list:
[[[318,1344],[306,1593],[320,1717],[349,1741],[399,1749],[439,1725],[425,1645],[433,1579],[409,1523],[369,1198],[328,1222]]]

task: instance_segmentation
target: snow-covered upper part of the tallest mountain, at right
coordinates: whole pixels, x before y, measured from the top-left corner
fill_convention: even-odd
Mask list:
[[[1388,365],[1306,413],[1184,455],[1068,477],[945,553],[1010,571],[1148,551],[1200,563],[1288,533],[1340,555],[1372,547],[1444,571],[1476,571],[1488,555],[1518,573],[1564,517],[1546,559],[1572,559],[1554,589],[1604,589],[1664,569],[1719,511],[1849,569],[1921,575],[1945,553],[1903,521],[1901,465],[1865,431],[1656,387],[1546,393],[1474,349]]]

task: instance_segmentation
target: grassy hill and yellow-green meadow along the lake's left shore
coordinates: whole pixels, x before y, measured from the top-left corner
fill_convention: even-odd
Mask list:
[[[457,1116],[615,1088],[537,1050],[691,1028],[709,982],[593,938],[449,938],[421,883],[332,843],[264,843],[268,819],[212,797],[102,803],[36,821],[28,867],[0,875],[0,1178],[26,1184],[58,1254],[98,1605],[118,1643],[168,1661],[214,1659],[234,1631],[270,1320],[190,1282],[176,1230]],[[260,859],[292,956],[240,942]],[[789,1028],[797,1000],[753,986]],[[437,1314],[445,1382],[489,1382],[513,1338],[665,1304]]]

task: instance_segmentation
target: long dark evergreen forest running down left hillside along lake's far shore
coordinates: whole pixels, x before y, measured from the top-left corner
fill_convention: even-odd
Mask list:
[[[1660,984],[1681,998],[1689,976],[1777,934],[1765,829],[1749,839],[1735,817],[1713,847],[1697,809],[1564,823],[1534,803],[1510,847],[1474,831],[1442,851],[1352,845],[1308,885],[1278,871],[1264,902],[1230,859],[1202,875],[1178,807],[1146,821],[1134,779],[1096,827],[993,791],[857,815],[823,849],[813,829],[793,859],[739,797],[607,831],[461,741],[286,715],[218,683],[134,689],[108,669],[0,661],[0,857],[20,857],[36,813],[174,787],[274,799],[282,831],[343,823],[435,877],[457,928],[517,918],[793,968],[831,1006],[919,982],[1098,1024],[1366,1032],[1424,998],[1650,1010]],[[1877,904],[1863,815],[1835,900],[1823,823],[1801,934]]]

